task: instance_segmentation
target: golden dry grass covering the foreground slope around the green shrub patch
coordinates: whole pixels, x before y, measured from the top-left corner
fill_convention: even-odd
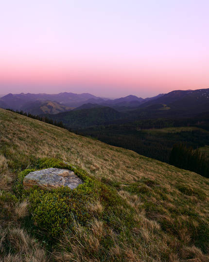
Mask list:
[[[0,126],[0,189],[11,190],[17,172],[30,167],[36,159],[56,157],[85,169],[104,183],[116,184],[118,194],[136,211],[134,219],[139,226],[132,229],[129,240],[118,242],[117,232],[109,230],[105,236],[103,221],[97,219],[104,208],[101,203],[89,205],[89,212],[95,216],[89,225],[91,233],[74,222],[75,234],[65,233],[59,247],[49,254],[51,261],[96,262],[89,254],[100,251],[102,236],[113,243],[109,250],[104,250],[108,254],[106,261],[209,261],[209,247],[203,253],[195,246],[194,232],[190,230],[200,226],[193,217],[209,226],[207,178],[3,109]],[[191,188],[192,194],[188,194]],[[22,261],[28,262],[49,259],[40,243],[20,228],[18,220],[27,215],[27,205],[0,200],[0,208],[11,214],[8,222],[0,216],[4,225],[0,238],[2,261],[21,261],[23,257]],[[15,255],[5,255],[1,241],[5,236],[7,242],[15,245]]]

